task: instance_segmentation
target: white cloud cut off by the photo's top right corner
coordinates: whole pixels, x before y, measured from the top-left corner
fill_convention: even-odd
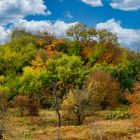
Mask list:
[[[112,0],[110,5],[114,9],[134,11],[140,9],[140,0]]]

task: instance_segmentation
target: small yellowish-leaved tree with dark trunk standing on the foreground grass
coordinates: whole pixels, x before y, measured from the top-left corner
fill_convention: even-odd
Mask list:
[[[63,101],[62,109],[69,119],[75,120],[76,125],[81,125],[90,112],[88,94],[85,90],[70,90]]]

